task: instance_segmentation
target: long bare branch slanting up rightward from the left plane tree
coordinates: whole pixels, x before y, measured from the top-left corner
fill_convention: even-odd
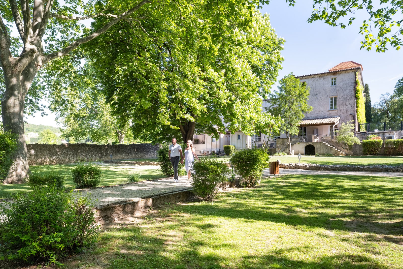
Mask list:
[[[116,17],[116,19],[114,19],[114,20],[110,21],[109,23],[107,23],[104,27],[102,27],[98,31],[95,31],[95,32],[91,33],[90,35],[88,35],[88,36],[86,36],[84,38],[77,39],[76,41],[74,41],[73,43],[71,43],[69,46],[67,46],[66,48],[64,48],[62,50],[59,50],[59,51],[56,51],[56,52],[53,52],[51,54],[46,55],[43,63],[45,64],[50,60],[53,60],[53,59],[58,58],[58,57],[62,57],[64,55],[68,54],[69,52],[71,52],[72,50],[76,49],[79,45],[84,44],[86,42],[89,42],[89,41],[93,40],[94,38],[97,38],[102,33],[106,32],[110,27],[112,27],[113,25],[118,23],[120,20],[122,20],[123,17],[131,15],[133,12],[135,12],[139,8],[141,8],[141,6],[143,6],[143,5],[147,4],[147,3],[151,3],[151,2],[152,1],[150,1],[150,0],[141,1],[139,4],[137,4],[136,6],[134,6],[131,9],[129,9],[127,12],[122,13],[121,15],[118,15]]]

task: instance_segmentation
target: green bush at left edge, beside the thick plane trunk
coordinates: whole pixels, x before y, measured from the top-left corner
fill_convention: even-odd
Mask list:
[[[8,175],[12,165],[12,155],[17,150],[17,135],[0,130],[0,182]]]

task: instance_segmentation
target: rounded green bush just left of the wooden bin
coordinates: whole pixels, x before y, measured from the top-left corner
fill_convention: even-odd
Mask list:
[[[253,187],[262,179],[263,169],[268,167],[268,154],[258,148],[247,148],[235,152],[231,157],[235,171],[243,178],[246,187]]]

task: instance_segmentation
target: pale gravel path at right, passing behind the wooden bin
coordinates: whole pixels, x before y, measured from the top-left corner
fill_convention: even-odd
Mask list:
[[[264,170],[264,175],[269,176],[269,169]],[[366,172],[366,171],[318,171],[304,169],[280,168],[280,175],[361,175],[367,177],[403,177],[403,173],[393,172]]]

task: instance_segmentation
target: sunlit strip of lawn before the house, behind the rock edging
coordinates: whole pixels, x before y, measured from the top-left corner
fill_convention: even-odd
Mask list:
[[[270,161],[280,160],[281,163],[298,163],[295,156],[270,156]],[[402,165],[403,156],[305,156],[301,163],[320,165]]]

